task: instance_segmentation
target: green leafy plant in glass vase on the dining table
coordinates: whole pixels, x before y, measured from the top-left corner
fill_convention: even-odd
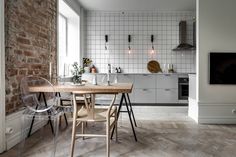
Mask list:
[[[84,72],[83,68],[78,66],[77,62],[74,62],[74,64],[72,64],[73,70],[71,71],[73,77],[72,80],[74,82],[74,84],[81,84],[82,83],[82,73]]]

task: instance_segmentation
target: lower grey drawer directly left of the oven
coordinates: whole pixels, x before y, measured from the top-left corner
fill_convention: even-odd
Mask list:
[[[156,103],[178,103],[178,89],[156,89]]]

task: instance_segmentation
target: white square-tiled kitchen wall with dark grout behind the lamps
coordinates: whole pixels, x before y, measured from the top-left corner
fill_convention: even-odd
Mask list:
[[[179,44],[179,21],[187,21],[187,40],[192,43],[194,12],[103,12],[86,13],[85,56],[93,60],[99,72],[106,72],[107,63],[123,72],[146,73],[149,60],[161,66],[172,63],[177,72],[195,72],[195,51],[172,51]],[[105,51],[105,34],[108,51]],[[132,53],[128,53],[128,35]],[[151,55],[151,35],[155,54]]]

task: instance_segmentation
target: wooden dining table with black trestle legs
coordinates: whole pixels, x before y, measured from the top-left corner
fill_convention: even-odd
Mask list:
[[[93,85],[91,83],[85,83],[82,85],[76,85],[73,83],[65,83],[65,84],[55,84],[53,85],[54,88],[48,87],[48,86],[30,86],[29,87],[29,91],[30,92],[39,92],[39,93],[45,93],[45,92],[55,92],[55,93],[88,93],[91,94],[92,99],[91,99],[91,103],[95,105],[95,95],[96,94],[122,94],[121,96],[121,102],[118,108],[118,117],[119,117],[119,113],[122,112],[121,111],[121,107],[123,105],[123,101],[125,100],[125,105],[127,108],[128,115],[129,115],[129,119],[130,119],[130,123],[131,123],[131,127],[132,127],[132,131],[134,134],[134,138],[135,141],[137,141],[137,137],[136,137],[136,133],[134,130],[134,126],[133,126],[133,120],[136,126],[136,121],[134,119],[134,114],[133,114],[133,110],[132,108],[130,109],[128,107],[128,103],[130,107],[131,106],[131,102],[129,99],[129,94],[132,92],[133,89],[133,84],[132,83],[114,83],[114,84],[110,84],[110,85],[106,85],[106,84],[97,84],[97,85]],[[53,91],[52,91],[53,90]],[[132,117],[133,116],[133,120]],[[113,133],[112,133],[113,135]]]

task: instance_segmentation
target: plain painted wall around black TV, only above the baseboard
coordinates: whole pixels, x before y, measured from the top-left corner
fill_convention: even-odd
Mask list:
[[[236,52],[236,1],[199,0],[199,101],[236,103],[235,85],[210,85],[208,54]]]

